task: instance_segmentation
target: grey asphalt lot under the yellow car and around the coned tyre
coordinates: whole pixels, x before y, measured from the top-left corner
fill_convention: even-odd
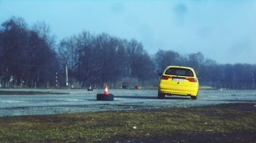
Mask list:
[[[8,89],[15,91],[13,89]],[[198,99],[166,96],[158,99],[158,90],[109,90],[114,101],[97,101],[97,93],[103,90],[23,90],[69,93],[61,95],[0,95],[0,117],[66,114],[93,111],[149,110],[158,108],[189,108],[202,105],[217,105],[234,102],[254,103],[256,90],[201,90]]]

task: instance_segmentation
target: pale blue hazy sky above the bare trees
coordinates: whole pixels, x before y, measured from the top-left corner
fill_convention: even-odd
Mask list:
[[[142,42],[159,49],[201,52],[219,63],[256,63],[254,0],[0,0],[0,23],[43,21],[61,38],[83,31]]]

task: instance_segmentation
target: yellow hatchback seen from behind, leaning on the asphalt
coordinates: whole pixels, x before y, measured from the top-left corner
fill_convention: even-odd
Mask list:
[[[190,96],[197,99],[198,78],[193,68],[184,66],[167,66],[158,87],[158,99],[163,99],[165,95]]]

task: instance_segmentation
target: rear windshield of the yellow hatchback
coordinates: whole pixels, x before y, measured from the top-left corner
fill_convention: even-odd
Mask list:
[[[165,75],[180,75],[186,77],[193,77],[193,71],[187,68],[169,68],[165,71]]]

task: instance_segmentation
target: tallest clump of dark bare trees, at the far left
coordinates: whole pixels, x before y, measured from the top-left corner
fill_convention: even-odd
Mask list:
[[[2,23],[0,29],[0,81],[2,87],[43,87],[53,84],[58,71],[58,55],[48,26],[28,28],[19,17]]]

